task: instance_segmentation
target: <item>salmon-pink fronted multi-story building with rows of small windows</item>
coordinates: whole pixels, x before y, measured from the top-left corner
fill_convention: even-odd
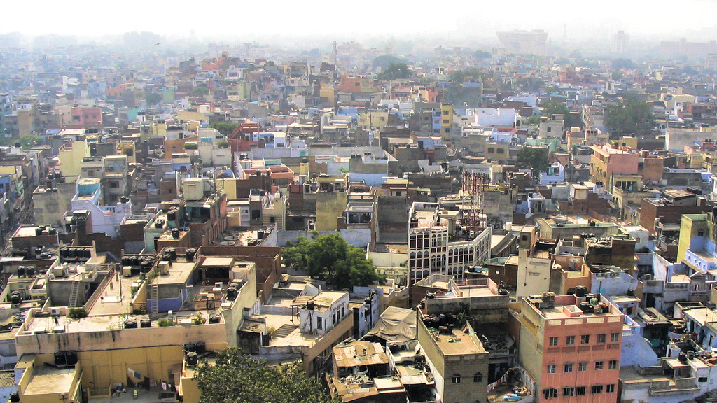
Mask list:
[[[543,293],[523,298],[519,359],[536,399],[614,403],[625,316],[602,295]]]

